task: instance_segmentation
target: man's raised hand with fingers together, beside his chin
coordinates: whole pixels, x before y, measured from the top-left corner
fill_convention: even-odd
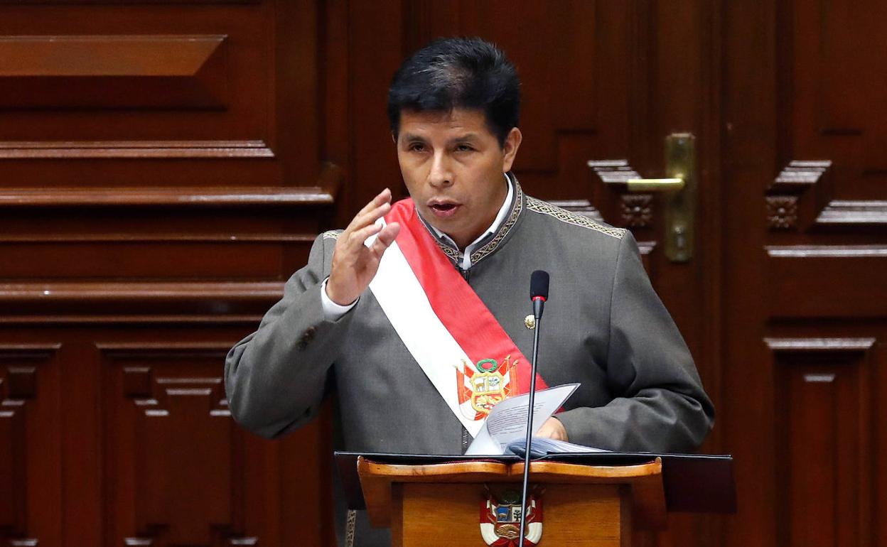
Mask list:
[[[367,203],[336,240],[326,295],[340,306],[356,301],[379,270],[382,254],[400,232],[398,223],[380,228],[375,222],[391,210],[391,191],[386,188]],[[366,238],[379,234],[372,246]]]

